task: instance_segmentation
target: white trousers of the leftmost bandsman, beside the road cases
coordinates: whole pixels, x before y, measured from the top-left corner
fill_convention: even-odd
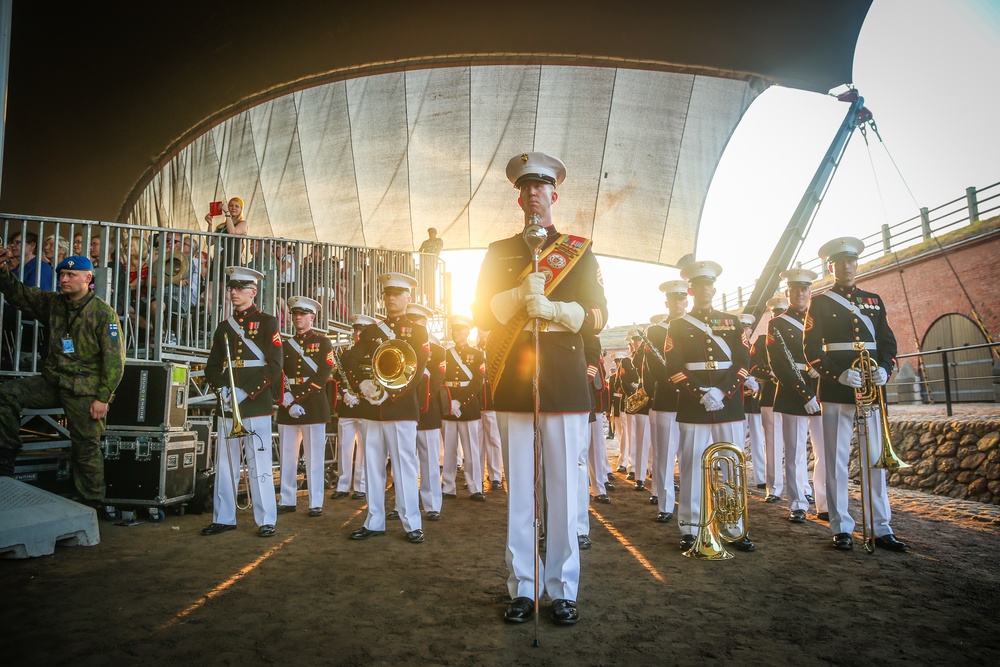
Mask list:
[[[219,419],[219,433],[229,433],[232,419]],[[246,456],[247,484],[258,526],[273,526],[278,520],[274,497],[274,454],[271,447],[271,417],[246,417],[243,427],[258,435],[225,439],[216,452],[215,507],[213,523],[236,525],[236,488],[240,483],[240,447]],[[263,447],[263,451],[260,448]]]

